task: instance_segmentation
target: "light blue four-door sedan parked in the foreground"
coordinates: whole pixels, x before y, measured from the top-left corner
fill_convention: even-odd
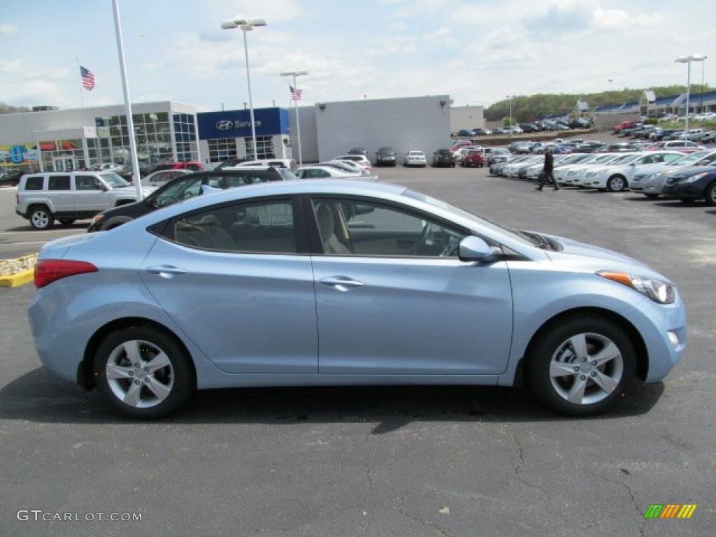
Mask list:
[[[594,415],[686,348],[667,278],[396,185],[267,183],[48,243],[29,306],[44,366],[122,415],[194,390],[525,384]]]

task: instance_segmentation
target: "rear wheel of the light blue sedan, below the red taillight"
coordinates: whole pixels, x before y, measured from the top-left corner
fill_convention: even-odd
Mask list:
[[[100,392],[125,417],[164,417],[194,391],[193,368],[183,347],[149,326],[110,333],[97,349],[93,365]]]

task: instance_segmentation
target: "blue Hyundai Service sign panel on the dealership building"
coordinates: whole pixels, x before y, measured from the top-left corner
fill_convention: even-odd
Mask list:
[[[253,110],[253,120],[257,136],[285,135],[289,132],[289,112],[283,108]],[[196,122],[199,126],[199,140],[251,136],[249,110],[199,112]]]

